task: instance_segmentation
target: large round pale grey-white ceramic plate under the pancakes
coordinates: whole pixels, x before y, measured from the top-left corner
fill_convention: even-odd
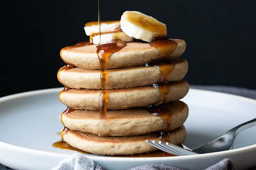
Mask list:
[[[62,88],[31,91],[0,98],[0,163],[19,170],[49,170],[75,152],[52,147],[62,129],[58,100]],[[185,145],[196,148],[230,128],[256,117],[256,100],[219,92],[190,89]],[[127,170],[143,164],[166,164],[203,169],[224,158],[239,169],[256,166],[256,127],[241,132],[234,149],[196,156],[119,158],[86,155],[106,170]]]

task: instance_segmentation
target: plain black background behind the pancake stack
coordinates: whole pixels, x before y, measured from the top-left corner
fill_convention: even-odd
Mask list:
[[[89,38],[83,26],[98,19],[97,0],[1,1],[0,96],[63,87],[59,52]],[[256,89],[255,0],[102,0],[102,20],[141,11],[186,40],[191,85]]]

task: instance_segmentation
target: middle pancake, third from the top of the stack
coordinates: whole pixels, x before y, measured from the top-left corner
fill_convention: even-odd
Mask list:
[[[66,89],[66,88],[65,88]],[[185,80],[169,82],[168,85],[141,86],[107,90],[108,109],[144,107],[182,99],[189,91]],[[59,100],[70,108],[99,110],[101,90],[75,89],[63,90]]]

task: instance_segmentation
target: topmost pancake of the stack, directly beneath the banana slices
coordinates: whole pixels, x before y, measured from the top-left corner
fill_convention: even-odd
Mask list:
[[[184,40],[173,39],[177,42],[175,51],[169,56],[171,59],[180,57],[186,48]],[[61,49],[60,55],[64,62],[89,70],[100,69],[97,45],[77,45],[68,46]],[[137,65],[144,65],[153,60],[166,58],[157,48],[151,47],[149,43],[127,42],[121,50],[113,53],[106,64],[106,68],[124,68]]]

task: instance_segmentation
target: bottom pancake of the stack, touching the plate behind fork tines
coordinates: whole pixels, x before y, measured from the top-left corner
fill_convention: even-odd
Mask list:
[[[172,144],[182,144],[186,138],[184,126],[170,131],[169,142]],[[129,155],[135,153],[145,153],[157,150],[156,147],[146,143],[145,140],[159,141],[159,133],[151,133],[139,136],[98,136],[90,133],[70,130],[64,134],[64,141],[71,146],[84,150],[85,152],[99,155]]]

